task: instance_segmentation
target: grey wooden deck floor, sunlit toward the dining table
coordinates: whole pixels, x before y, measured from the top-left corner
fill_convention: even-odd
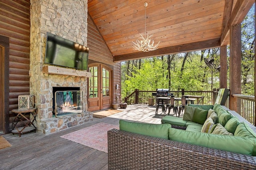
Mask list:
[[[128,105],[123,111],[103,119],[94,118],[84,125],[72,127],[54,134],[26,133],[6,134],[4,138],[12,144],[0,150],[0,169],[34,170],[34,169],[81,169],[107,170],[108,154],[99,150],[60,138],[64,134],[80,130],[97,123],[118,125],[120,119],[145,123],[161,123],[162,111],[155,115],[156,107],[147,105]]]

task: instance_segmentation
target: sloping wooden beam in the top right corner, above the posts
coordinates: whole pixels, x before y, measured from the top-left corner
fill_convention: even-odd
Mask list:
[[[227,1],[229,0],[226,0],[226,4],[230,3]],[[241,24],[246,14],[249,12],[250,8],[252,8],[253,4],[254,4],[254,0],[237,0],[236,6],[234,7],[231,13],[230,20],[228,20],[228,24],[226,24],[224,31],[222,32],[222,36],[220,38],[221,45],[229,44],[228,37],[229,37],[230,26]]]

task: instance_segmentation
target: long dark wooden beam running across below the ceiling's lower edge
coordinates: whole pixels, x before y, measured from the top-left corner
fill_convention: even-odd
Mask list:
[[[138,53],[130,53],[130,54],[124,54],[124,55],[117,55],[117,56],[114,56],[114,62],[147,58],[147,57],[155,57],[155,56],[174,54],[174,53],[182,53],[182,52],[188,52],[188,51],[197,51],[201,49],[208,49],[208,48],[214,48],[214,47],[220,47],[219,38],[202,41],[202,42],[196,42],[196,43],[176,45],[172,47],[164,47],[164,48],[156,49],[154,51],[149,51],[149,52],[138,52]]]

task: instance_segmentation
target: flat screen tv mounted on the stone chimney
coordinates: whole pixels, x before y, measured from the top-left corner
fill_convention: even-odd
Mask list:
[[[44,63],[87,70],[89,48],[47,32]]]

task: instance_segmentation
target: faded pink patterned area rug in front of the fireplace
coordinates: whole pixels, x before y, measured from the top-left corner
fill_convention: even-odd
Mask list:
[[[119,125],[98,123],[60,137],[108,153],[108,130],[112,128],[119,129]]]

